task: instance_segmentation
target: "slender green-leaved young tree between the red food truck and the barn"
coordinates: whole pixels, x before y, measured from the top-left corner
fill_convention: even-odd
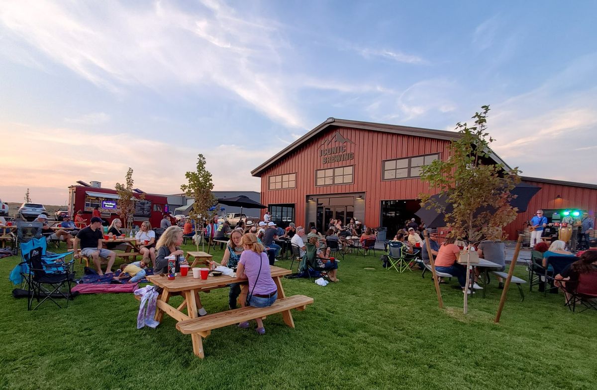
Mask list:
[[[209,210],[217,204],[216,197],[211,193],[214,189],[214,183],[211,180],[211,173],[205,167],[205,157],[203,154],[197,156],[195,172],[187,172],[184,176],[188,182],[181,185],[180,189],[186,196],[193,198],[193,208],[189,212],[189,217],[195,221],[195,234],[201,236],[203,221],[213,216]],[[195,240],[195,244],[199,251],[199,241]],[[201,240],[201,244],[202,249],[205,249],[204,240]]]

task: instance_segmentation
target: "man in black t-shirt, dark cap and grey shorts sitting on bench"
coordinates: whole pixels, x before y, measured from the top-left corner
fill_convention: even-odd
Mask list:
[[[105,273],[112,273],[112,266],[114,264],[114,260],[116,260],[115,252],[101,247],[101,239],[104,237],[101,228],[102,223],[103,221],[101,218],[91,217],[91,223],[89,226],[79,230],[79,233],[76,234],[75,240],[73,242],[75,258],[79,258],[81,255],[91,258],[93,260],[93,264],[96,266],[97,275],[100,276],[104,275],[104,273],[101,272],[101,258],[105,258],[108,261]],[[81,241],[81,254],[79,254],[77,251],[79,241]]]

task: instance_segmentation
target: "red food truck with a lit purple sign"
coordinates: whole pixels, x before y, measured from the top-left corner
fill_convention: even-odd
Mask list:
[[[92,182],[93,184],[94,182]],[[145,199],[139,199],[143,193],[134,193],[137,198],[133,214],[133,224],[140,226],[143,221],[149,221],[152,227],[159,227],[163,215],[168,212],[168,199],[163,195],[144,194]],[[69,187],[69,214],[73,217],[77,211],[83,212],[87,223],[91,220],[91,213],[96,206],[101,218],[112,223],[118,214],[118,193],[112,188],[101,188],[89,185],[71,185]],[[124,221],[122,221],[124,223]]]

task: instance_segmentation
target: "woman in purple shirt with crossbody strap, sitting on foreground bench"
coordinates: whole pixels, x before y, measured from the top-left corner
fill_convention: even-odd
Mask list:
[[[245,250],[241,254],[241,260],[238,261],[236,277],[249,279],[249,306],[272,306],[278,298],[278,287],[273,282],[269,259],[263,252],[263,244],[257,241],[255,234],[247,233],[242,236],[242,247]],[[261,318],[256,318],[255,321],[257,321],[257,333],[264,334],[265,328]],[[248,328],[249,322],[241,322],[238,326]]]

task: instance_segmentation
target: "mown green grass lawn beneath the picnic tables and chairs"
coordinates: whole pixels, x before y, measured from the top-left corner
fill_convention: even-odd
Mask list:
[[[455,280],[442,285],[439,309],[429,273],[421,279],[419,271],[386,271],[378,255],[347,256],[337,284],[284,279],[287,295],[315,298],[293,311],[296,329],[281,315],[267,318],[264,336],[254,324],[220,328],[198,359],[168,316],[156,329],[137,330],[131,294],[79,295],[65,309],[45,303],[27,312],[26,300],[11,296],[8,273],[17,263],[0,260],[0,388],[597,388],[597,312],[571,313],[561,295],[528,287],[521,303],[512,285],[494,324],[496,281],[487,298],[469,300],[464,316]],[[527,279],[524,267],[516,275]],[[227,310],[227,294],[202,295],[208,312]]]

